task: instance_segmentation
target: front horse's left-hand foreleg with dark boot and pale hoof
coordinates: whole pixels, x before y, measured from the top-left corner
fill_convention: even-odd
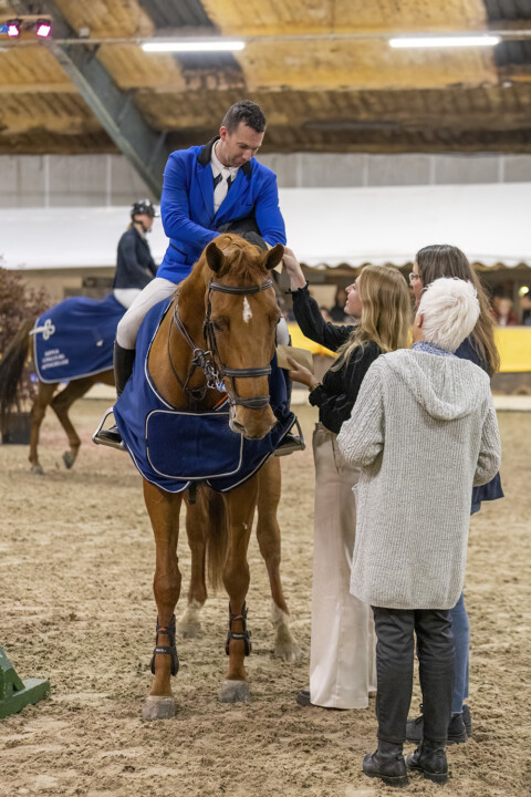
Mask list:
[[[180,494],[165,493],[144,480],[146,503],[155,535],[156,565],[153,591],[157,603],[157,632],[152,659],[155,675],[143,708],[144,720],[169,720],[175,714],[170,677],[179,660],[175,646],[174,610],[179,599],[181,576],[177,558]]]

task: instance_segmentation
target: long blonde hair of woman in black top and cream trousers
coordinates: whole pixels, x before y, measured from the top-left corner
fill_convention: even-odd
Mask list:
[[[363,349],[369,341],[384,353],[408,346],[412,302],[407,282],[398,269],[365,266],[357,278],[357,290],[363,302],[362,318],[339,349],[333,371],[337,371],[355,349]]]

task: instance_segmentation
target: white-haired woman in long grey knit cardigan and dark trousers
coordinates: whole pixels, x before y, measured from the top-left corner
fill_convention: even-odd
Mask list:
[[[378,748],[363,768],[389,785],[407,783],[414,632],[424,738],[407,767],[447,779],[448,611],[465,580],[472,486],[489,482],[501,458],[489,377],[452,354],[478,315],[471,283],[435,280],[420,300],[412,350],[373,363],[337,437],[345,459],[361,466],[351,592],[373,607],[378,640]]]

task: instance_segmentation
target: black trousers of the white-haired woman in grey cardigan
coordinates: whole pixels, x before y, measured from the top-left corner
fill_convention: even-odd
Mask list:
[[[446,744],[451,717],[455,644],[447,610],[373,607],[376,629],[378,738],[403,744],[413,692],[414,632],[423,691],[424,737]]]

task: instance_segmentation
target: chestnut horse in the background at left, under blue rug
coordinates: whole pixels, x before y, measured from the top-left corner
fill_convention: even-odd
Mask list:
[[[33,327],[34,320],[30,320],[20,328],[0,361],[0,417],[4,417],[15,404],[18,385],[22,379],[24,364],[32,351],[30,333]],[[42,465],[39,462],[39,435],[49,406],[58,416],[69,441],[69,449],[63,454],[63,463],[67,468],[73,466],[80,451],[81,439],[70,420],[69,410],[77,398],[84,396],[92,385],[97,382],[114,386],[113,370],[72,380],[59,393],[59,382],[48,384],[39,380],[38,393],[31,407],[29,459],[32,473],[43,473]]]

